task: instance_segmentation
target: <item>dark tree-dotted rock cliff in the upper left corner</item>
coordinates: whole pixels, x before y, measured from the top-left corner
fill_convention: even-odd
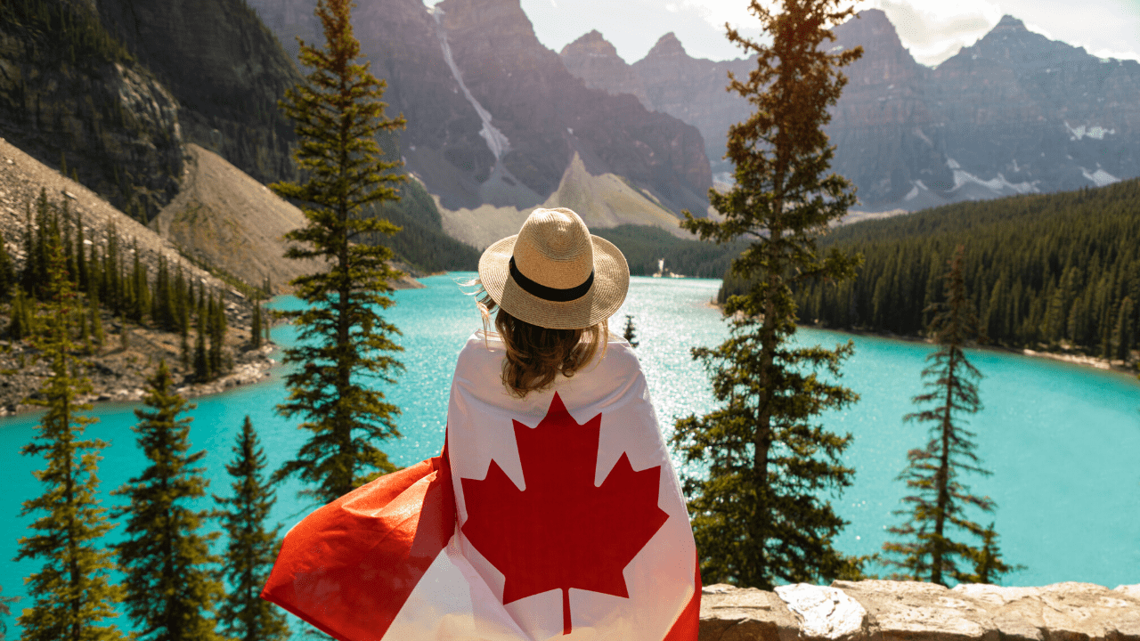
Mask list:
[[[0,136],[138,218],[178,190],[178,111],[93,2],[0,6]]]

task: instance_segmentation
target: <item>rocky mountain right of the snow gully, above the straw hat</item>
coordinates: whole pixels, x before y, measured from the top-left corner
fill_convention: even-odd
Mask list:
[[[462,80],[464,94],[478,105],[488,137],[502,143],[488,172],[472,176],[480,194],[494,179],[514,198],[492,204],[540,204],[578,153],[592,175],[624,176],[674,211],[708,206],[703,195],[712,178],[694,127],[646,111],[634,96],[608,96],[576,80],[563,59],[538,41],[519,0],[443,0],[437,7],[445,11],[440,25],[456,82]],[[584,59],[617,63],[614,72],[624,64],[617,56]],[[453,156],[453,167],[466,169],[462,157]],[[431,180],[425,182],[432,188]]]

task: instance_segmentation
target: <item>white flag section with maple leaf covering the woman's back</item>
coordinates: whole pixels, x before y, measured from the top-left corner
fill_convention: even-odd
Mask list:
[[[636,356],[613,340],[519,398],[504,350],[473,335],[448,406],[450,558],[488,587],[472,601],[480,634],[665,639],[694,597],[697,557]]]

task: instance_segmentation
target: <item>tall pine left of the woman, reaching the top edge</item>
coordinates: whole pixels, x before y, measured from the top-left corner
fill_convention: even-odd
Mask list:
[[[376,447],[397,437],[399,408],[384,401],[377,383],[394,383],[402,368],[391,352],[400,350],[391,336],[399,331],[377,309],[393,305],[390,282],[399,274],[385,260],[382,245],[360,241],[399,230],[385,219],[361,216],[361,208],[397,198],[389,173],[398,162],[378,159],[377,133],[404,127],[404,119],[385,119],[380,100],[384,82],[359,64],[360,43],[352,35],[350,0],[318,0],[325,48],[301,43],[301,63],[312,72],[307,82],[286,92],[282,107],[293,119],[300,139],[295,157],[308,176],[303,185],[278,182],[274,190],[303,203],[308,224],[286,238],[301,243],[285,255],[320,258],[328,271],[292,281],[306,308],[285,311],[298,325],[298,346],[284,362],[299,367],[286,375],[286,417],[303,417],[312,436],[295,459],[274,474],[275,481],[298,474],[316,488],[302,494],[328,502],[377,473],[394,470]]]

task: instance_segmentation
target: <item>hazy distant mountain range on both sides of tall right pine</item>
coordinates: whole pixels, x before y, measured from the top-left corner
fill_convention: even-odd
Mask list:
[[[1134,60],[1097,58],[1011,16],[936,68],[911,57],[881,10],[862,11],[834,33],[834,47],[864,49],[844,70],[849,82],[826,127],[837,147],[832,168],[858,187],[863,209],[913,211],[1140,176]],[[567,67],[589,87],[644,96],[648,108],[697,125],[709,159],[723,155],[727,127],[750,113],[724,91],[725,75],[754,63],[694,59],[667,34],[622,67],[598,40],[587,34],[563,49]],[[586,64],[591,52],[605,63]],[[625,68],[628,81],[612,71]]]

